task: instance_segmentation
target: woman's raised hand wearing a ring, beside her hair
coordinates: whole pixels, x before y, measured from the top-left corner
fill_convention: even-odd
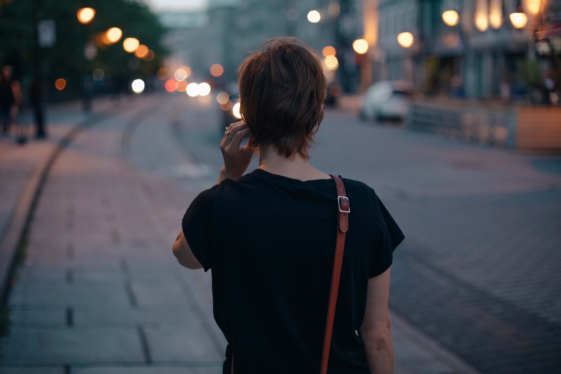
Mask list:
[[[253,150],[249,147],[249,140],[246,145],[240,148],[243,138],[250,135],[251,131],[245,121],[236,122],[227,127],[224,138],[220,142],[220,150],[224,157],[224,166],[220,170],[220,177],[217,184],[223,179],[238,179],[245,173],[247,166],[253,156]],[[228,137],[229,135],[229,137]]]

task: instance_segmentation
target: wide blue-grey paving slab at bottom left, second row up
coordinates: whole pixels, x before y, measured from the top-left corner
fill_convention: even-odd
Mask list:
[[[142,363],[137,329],[21,329],[2,339],[3,365]]]

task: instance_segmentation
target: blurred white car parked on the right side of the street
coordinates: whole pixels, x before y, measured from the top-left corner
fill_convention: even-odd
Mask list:
[[[361,120],[404,120],[412,98],[404,81],[378,81],[362,97]]]

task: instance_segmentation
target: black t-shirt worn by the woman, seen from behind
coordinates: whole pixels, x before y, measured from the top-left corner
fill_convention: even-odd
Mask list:
[[[404,236],[366,184],[343,178],[351,213],[329,373],[369,373],[355,330],[368,279],[386,271]],[[301,181],[256,169],[201,192],[183,233],[212,269],[214,319],[237,373],[320,372],[337,230],[332,179]]]

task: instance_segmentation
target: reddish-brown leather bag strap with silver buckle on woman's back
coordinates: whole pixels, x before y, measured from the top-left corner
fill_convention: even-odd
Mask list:
[[[333,273],[331,276],[331,289],[329,291],[329,307],[327,321],[325,321],[325,335],[323,338],[323,355],[321,356],[321,374],[327,374],[327,363],[329,361],[329,348],[331,348],[331,335],[333,332],[333,318],[335,317],[335,304],[337,303],[337,292],[339,290],[339,279],[341,278],[341,265],[343,263],[343,249],[345,248],[345,234],[349,228],[348,216],[351,212],[349,199],[345,193],[343,180],[334,175],[329,175],[337,186],[337,245],[335,247],[335,259],[333,261]]]

